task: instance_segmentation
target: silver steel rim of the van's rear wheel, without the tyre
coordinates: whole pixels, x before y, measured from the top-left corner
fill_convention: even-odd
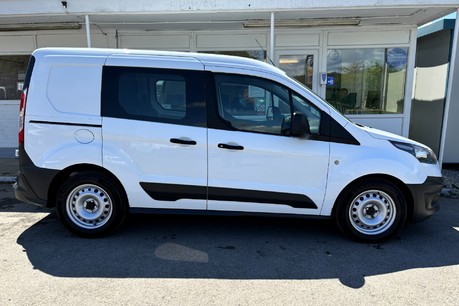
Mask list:
[[[66,201],[70,220],[81,228],[97,229],[104,226],[113,212],[108,193],[100,186],[84,184],[70,192]]]

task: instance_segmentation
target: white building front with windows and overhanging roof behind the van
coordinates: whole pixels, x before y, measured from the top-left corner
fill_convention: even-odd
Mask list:
[[[417,27],[458,7],[452,0],[1,1],[0,147],[17,145],[28,56],[51,46],[272,62],[351,120],[408,136]]]

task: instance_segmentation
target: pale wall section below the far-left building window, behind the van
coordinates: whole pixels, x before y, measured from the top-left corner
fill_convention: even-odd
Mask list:
[[[18,146],[19,101],[0,101],[0,148]]]

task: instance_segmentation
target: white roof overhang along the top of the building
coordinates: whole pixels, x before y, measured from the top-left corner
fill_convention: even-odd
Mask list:
[[[303,3],[304,2],[304,3]],[[320,3],[319,3],[320,2]],[[454,12],[459,1],[110,1],[0,2],[0,31],[77,28],[89,15],[100,30],[238,30],[269,27],[420,26]]]

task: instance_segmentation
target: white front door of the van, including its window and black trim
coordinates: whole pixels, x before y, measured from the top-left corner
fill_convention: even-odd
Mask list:
[[[222,124],[208,129],[208,209],[318,215],[329,143],[289,135],[293,97],[301,97],[241,75],[215,74],[215,89]]]

